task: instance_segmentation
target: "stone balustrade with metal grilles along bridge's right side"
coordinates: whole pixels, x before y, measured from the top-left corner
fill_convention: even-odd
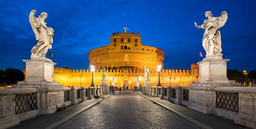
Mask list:
[[[141,87],[143,93],[256,129],[255,87]],[[208,99],[206,99],[208,98]]]

